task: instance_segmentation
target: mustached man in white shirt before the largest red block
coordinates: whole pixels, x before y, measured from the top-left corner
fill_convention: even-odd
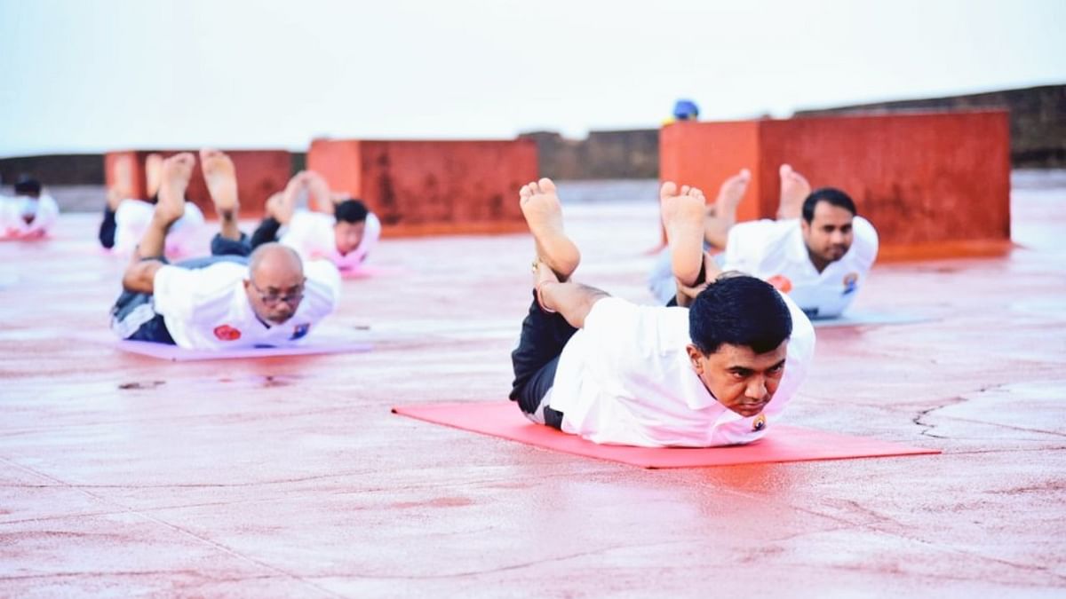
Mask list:
[[[737,224],[747,191],[747,169],[726,179],[705,222],[707,244],[724,248],[720,263],[770,281],[810,318],[840,315],[866,281],[877,257],[877,232],[858,216],[844,192],[810,183],[788,164],[780,167],[777,220]],[[656,296],[672,295],[673,276],[663,258],[649,280]]]

